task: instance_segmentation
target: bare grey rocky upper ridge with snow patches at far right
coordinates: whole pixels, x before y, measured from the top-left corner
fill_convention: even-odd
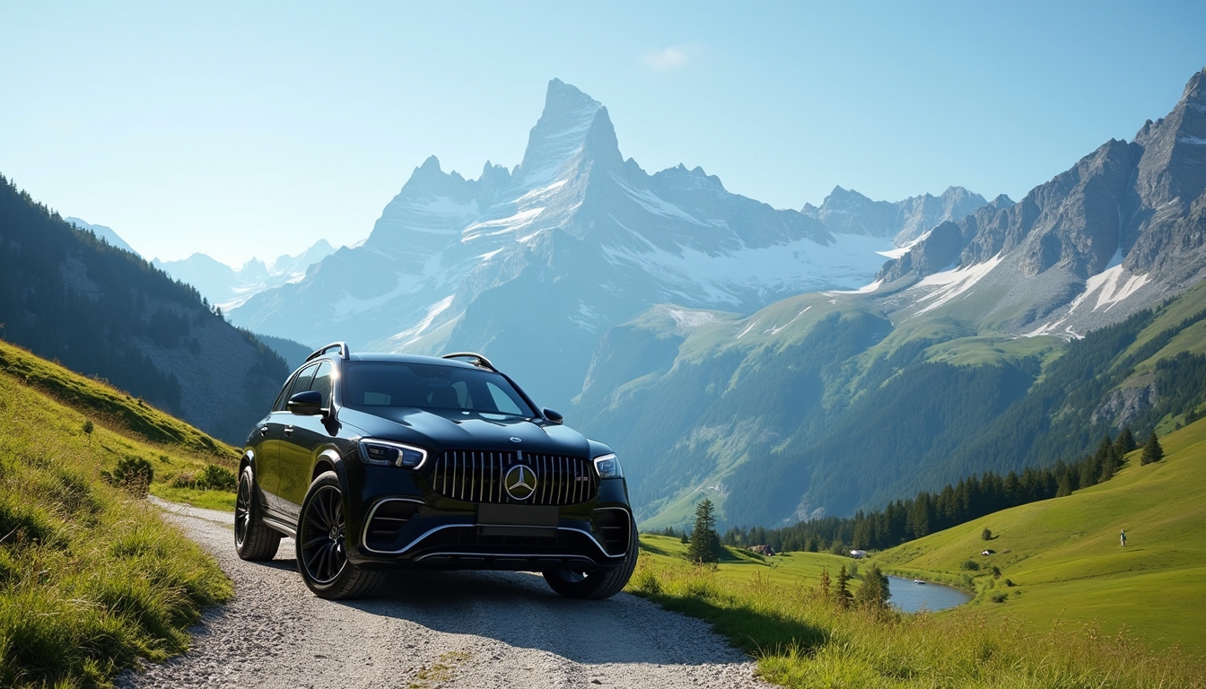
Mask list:
[[[1111,140],[1017,204],[933,228],[877,275],[890,311],[976,311],[1077,337],[1206,276],[1206,70],[1131,142]]]

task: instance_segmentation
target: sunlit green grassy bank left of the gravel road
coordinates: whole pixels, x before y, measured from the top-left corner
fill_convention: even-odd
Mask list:
[[[236,455],[28,352],[0,344],[0,685],[105,687],[140,658],[187,649],[185,629],[227,600],[230,583],[100,472],[142,457],[154,468],[152,491],[170,492],[174,479]]]

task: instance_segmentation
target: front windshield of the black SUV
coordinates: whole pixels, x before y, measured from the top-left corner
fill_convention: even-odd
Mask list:
[[[344,375],[349,407],[415,407],[534,418],[519,391],[497,373],[429,363],[352,363]]]

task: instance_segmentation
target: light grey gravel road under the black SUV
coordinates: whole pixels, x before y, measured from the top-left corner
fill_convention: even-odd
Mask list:
[[[572,601],[534,574],[433,572],[324,601],[302,583],[292,539],[271,562],[244,562],[229,515],[162,504],[235,597],[192,630],[192,650],[127,671],[122,688],[769,687],[706,623],[628,594]]]

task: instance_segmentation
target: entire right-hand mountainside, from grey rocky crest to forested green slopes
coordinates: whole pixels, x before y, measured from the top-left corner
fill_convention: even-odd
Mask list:
[[[844,200],[829,222],[872,216]],[[663,304],[604,334],[569,414],[625,459],[646,526],[702,496],[734,524],[851,514],[1206,408],[1206,70],[1132,142],[923,237],[859,293]]]

